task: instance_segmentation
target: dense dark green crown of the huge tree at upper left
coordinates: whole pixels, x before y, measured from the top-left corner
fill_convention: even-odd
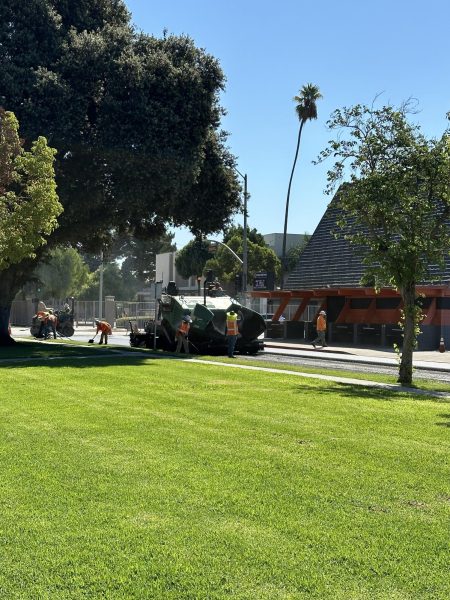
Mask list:
[[[95,252],[167,225],[221,230],[240,186],[220,131],[218,62],[186,36],[137,33],[122,0],[22,4],[0,3],[0,105],[26,143],[43,134],[58,150],[64,215],[49,243]],[[7,297],[32,266],[2,274]]]

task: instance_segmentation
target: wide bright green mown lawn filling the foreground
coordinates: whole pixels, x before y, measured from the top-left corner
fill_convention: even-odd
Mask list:
[[[98,351],[0,363],[1,598],[450,597],[449,403]]]

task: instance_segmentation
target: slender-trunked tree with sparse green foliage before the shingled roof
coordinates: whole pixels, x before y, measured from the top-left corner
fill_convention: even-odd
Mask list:
[[[322,159],[329,171],[344,235],[364,254],[365,280],[396,288],[403,299],[403,348],[398,381],[412,382],[421,311],[416,286],[432,280],[430,267],[450,251],[450,136],[427,139],[408,120],[407,105],[336,110],[336,138]]]

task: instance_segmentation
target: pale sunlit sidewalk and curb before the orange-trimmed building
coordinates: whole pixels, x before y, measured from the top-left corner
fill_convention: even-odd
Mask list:
[[[266,352],[274,354],[292,354],[313,358],[320,355],[321,359],[339,359],[340,361],[362,362],[378,365],[397,366],[398,357],[393,349],[376,347],[345,347],[338,345],[326,348],[314,349],[305,340],[264,339]],[[438,350],[415,351],[413,365],[417,369],[435,369],[438,371],[450,371],[450,352],[439,352]]]

